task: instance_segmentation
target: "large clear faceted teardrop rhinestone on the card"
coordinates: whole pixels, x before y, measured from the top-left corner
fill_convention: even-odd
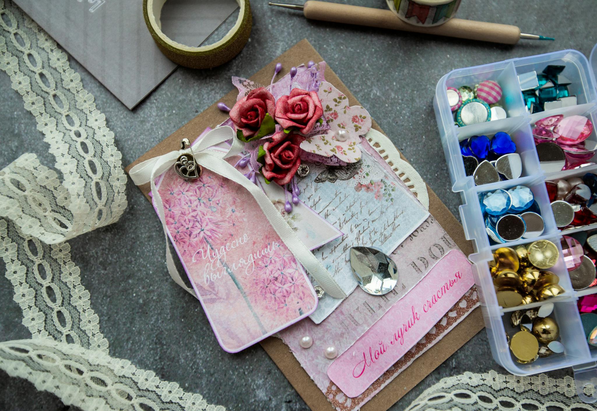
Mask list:
[[[396,263],[374,248],[351,248],[350,268],[359,286],[371,295],[389,293],[398,283]]]

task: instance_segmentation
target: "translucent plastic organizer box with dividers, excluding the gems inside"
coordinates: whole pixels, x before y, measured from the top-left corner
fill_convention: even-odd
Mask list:
[[[538,160],[531,126],[538,119],[547,116],[563,114],[584,115],[594,125],[595,112],[597,112],[597,82],[595,81],[595,70],[597,69],[597,55],[595,50],[591,52],[590,62],[576,50],[562,50],[547,54],[533,55],[530,57],[513,58],[512,60],[500,61],[498,63],[485,64],[484,66],[456,69],[442,77],[436,88],[436,95],[433,98],[433,106],[439,126],[442,146],[448,162],[450,178],[453,184],[453,191],[461,195],[463,205],[460,206],[460,218],[464,233],[468,240],[472,240],[475,253],[469,256],[473,262],[473,274],[481,300],[481,309],[487,327],[487,334],[491,345],[494,359],[510,373],[515,375],[531,375],[550,370],[573,367],[576,380],[577,393],[581,400],[592,403],[597,396],[589,396],[586,393],[586,386],[593,384],[597,388],[597,347],[587,343],[584,335],[580,314],[577,309],[577,299],[580,296],[597,293],[597,286],[574,291],[572,288],[568,271],[562,259],[560,239],[562,235],[596,228],[597,224],[579,227],[574,230],[561,231],[556,227],[550,207],[549,197],[544,184],[546,180],[556,178],[568,178],[573,176],[582,177],[587,172],[597,173],[597,165],[586,166],[580,169],[559,171],[546,174],[541,170]],[[518,75],[535,70],[541,73],[549,64],[566,66],[564,74],[571,84],[568,86],[570,95],[577,96],[577,105],[564,107],[562,109],[547,110],[540,113],[530,114],[527,112],[522,97]],[[458,88],[462,85],[475,85],[483,80],[494,80],[503,89],[501,105],[507,112],[506,119],[494,120],[463,127],[454,125],[454,116],[448,104],[446,94],[447,87]],[[498,131],[505,131],[515,141],[516,152],[521,155],[522,175],[515,180],[499,181],[498,183],[475,186],[472,176],[466,176],[460,153],[459,141],[473,135],[491,135]],[[597,141],[597,134],[593,129],[589,140]],[[593,162],[597,162],[595,158]],[[497,190],[498,188],[508,189],[514,186],[530,187],[535,199],[540,206],[541,215],[545,222],[545,230],[540,237],[534,239],[521,239],[506,244],[490,245],[487,236],[484,218],[479,205],[478,194],[486,191]],[[536,240],[547,239],[555,243],[560,251],[558,263],[550,268],[550,271],[560,277],[559,285],[565,289],[565,293],[547,299],[518,307],[503,308],[498,304],[493,280],[488,267],[488,262],[493,260],[493,252],[501,246],[516,246],[528,244]],[[510,353],[506,339],[506,332],[512,332],[510,325],[510,314],[512,311],[527,310],[553,302],[554,309],[552,317],[560,327],[560,338],[564,344],[564,353],[552,354],[549,357],[540,358],[530,364],[521,364],[515,361]]]

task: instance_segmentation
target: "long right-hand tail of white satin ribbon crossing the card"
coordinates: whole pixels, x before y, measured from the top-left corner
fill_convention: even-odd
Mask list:
[[[215,153],[214,153],[215,154]],[[307,273],[311,274],[313,279],[334,298],[346,298],[346,293],[340,288],[340,285],[334,280],[330,272],[313,255],[312,252],[298,239],[296,233],[290,228],[288,223],[282,218],[278,209],[272,204],[270,199],[257,187],[251,183],[236,168],[216,155],[210,152],[202,152],[195,156],[195,161],[205,168],[225,177],[235,183],[240,184],[247,189],[266,216],[267,221],[272,225],[282,242],[288,247],[294,258],[303,265]],[[162,211],[163,213],[163,211]]]

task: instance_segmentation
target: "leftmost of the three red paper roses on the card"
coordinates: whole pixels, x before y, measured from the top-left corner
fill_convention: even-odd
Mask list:
[[[246,97],[236,101],[236,104],[230,110],[230,119],[235,123],[236,129],[241,130],[244,138],[248,140],[257,135],[266,114],[273,118],[274,110],[275,100],[272,93],[260,87],[251,90]],[[273,132],[273,129],[271,132]],[[263,137],[263,135],[260,137]]]

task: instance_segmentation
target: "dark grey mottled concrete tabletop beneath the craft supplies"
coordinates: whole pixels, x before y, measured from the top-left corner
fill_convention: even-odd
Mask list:
[[[384,0],[341,2],[385,7]],[[210,106],[232,86],[230,76],[250,76],[300,39],[307,38],[458,217],[432,107],[442,75],[458,67],[574,48],[589,55],[597,42],[594,2],[464,1],[458,17],[516,24],[555,42],[521,41],[515,47],[367,27],[307,21],[299,13],[253,0],[253,32],[238,57],[212,70],[179,68],[135,110],[129,111],[76,61],[85,88],[106,115],[122,163],[128,165]],[[53,163],[35,120],[0,73],[0,168],[24,152]],[[150,206],[129,181],[128,210],[109,227],[70,241],[82,281],[110,342],[110,354],[201,393],[229,410],[304,410],[306,404],[259,345],[224,353],[199,304],[171,282],[164,264],[164,237]],[[2,268],[2,267],[0,267]],[[0,338],[28,338],[7,280],[0,278]],[[392,410],[404,409],[425,388],[465,371],[506,373],[491,357],[481,332],[445,361]],[[549,376],[571,375],[571,369]],[[0,372],[0,410],[66,410],[60,400],[26,381]]]

